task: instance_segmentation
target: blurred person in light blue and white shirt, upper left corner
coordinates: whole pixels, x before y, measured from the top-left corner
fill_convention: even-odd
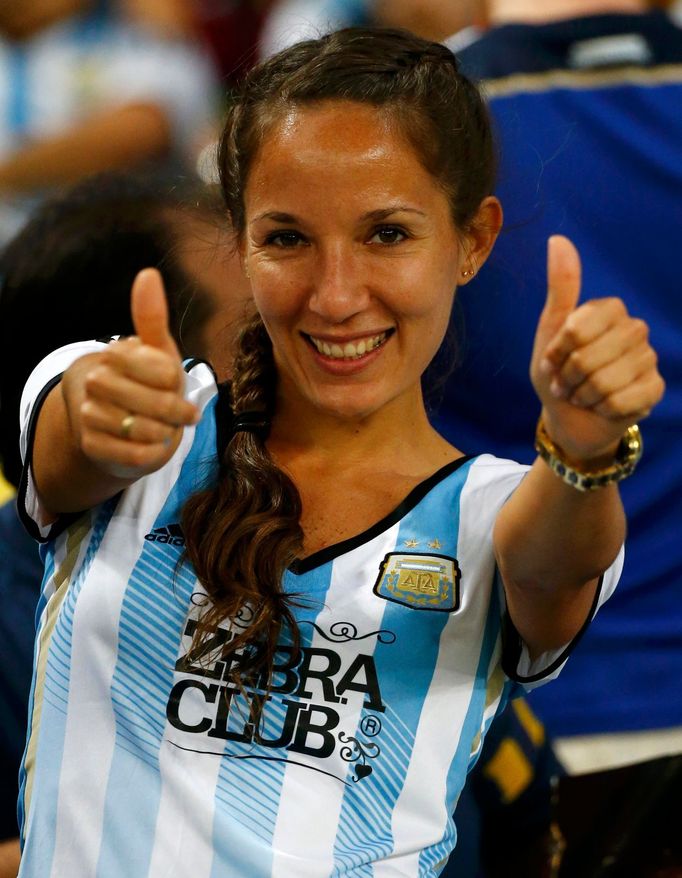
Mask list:
[[[124,13],[114,0],[0,4],[0,243],[60,185],[193,167],[217,103],[210,54]]]

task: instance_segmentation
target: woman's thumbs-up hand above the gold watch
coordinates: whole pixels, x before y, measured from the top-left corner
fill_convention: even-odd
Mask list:
[[[550,238],[531,380],[567,459],[598,466],[613,459],[625,429],[649,414],[665,384],[646,323],[617,298],[580,305],[580,292],[578,251],[567,238]]]

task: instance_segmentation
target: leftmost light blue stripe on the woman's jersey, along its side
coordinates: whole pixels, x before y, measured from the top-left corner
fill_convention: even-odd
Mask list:
[[[95,521],[90,541],[80,568],[74,571],[70,583],[64,583],[61,588],[68,588],[67,596],[60,607],[59,615],[55,624],[53,637],[62,637],[69,644],[69,662],[64,665],[63,661],[58,664],[62,668],[61,673],[54,671],[54,651],[52,644],[47,645],[47,669],[46,683],[49,678],[62,677],[64,684],[70,681],[70,656],[71,640],[73,634],[73,610],[68,610],[65,605],[73,608],[80,590],[83,586],[97,550],[102,542],[104,532],[111,520],[116,508],[116,499],[110,500],[100,508]],[[68,538],[68,531],[61,538]],[[52,558],[54,561],[54,558]],[[54,565],[50,568],[54,569]],[[43,603],[44,606],[44,603]],[[66,676],[64,676],[64,672]],[[29,844],[24,849],[22,856],[20,875],[30,875],[31,878],[47,878],[52,868],[54,846],[56,841],[55,821],[57,816],[57,803],[59,798],[60,775],[62,759],[64,755],[64,738],[66,731],[65,703],[60,698],[59,706],[55,707],[49,699],[43,698],[41,705],[40,728],[35,730],[37,734],[36,764],[31,792],[31,825]]]

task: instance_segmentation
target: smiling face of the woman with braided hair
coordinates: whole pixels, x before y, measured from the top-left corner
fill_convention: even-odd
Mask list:
[[[421,405],[465,248],[389,118],[345,101],[290,111],[254,158],[245,206],[242,252],[280,405],[343,419]]]

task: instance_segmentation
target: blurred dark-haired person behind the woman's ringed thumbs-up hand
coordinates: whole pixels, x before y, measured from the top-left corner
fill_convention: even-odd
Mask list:
[[[29,373],[55,345],[132,333],[130,287],[148,266],[163,274],[184,355],[209,359],[225,378],[251,297],[211,190],[97,175],[45,201],[0,255],[0,461],[13,488],[21,477],[19,403]],[[13,878],[43,567],[10,498],[0,506],[0,557],[0,878]]]

